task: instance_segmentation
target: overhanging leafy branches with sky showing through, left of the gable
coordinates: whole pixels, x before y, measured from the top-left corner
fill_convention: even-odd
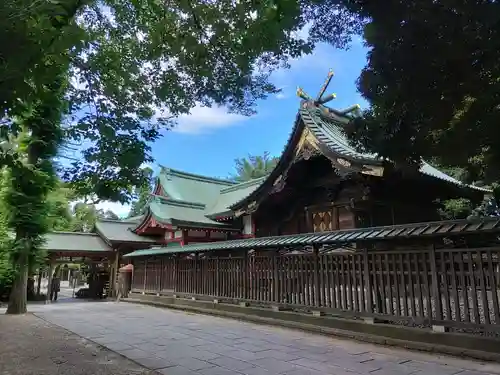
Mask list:
[[[277,92],[270,70],[310,50],[293,36],[303,24],[293,2],[107,0],[85,6],[79,24],[69,90],[79,116],[66,135],[89,147],[63,176],[82,196],[120,202],[143,185],[162,127],[197,104],[252,114]]]

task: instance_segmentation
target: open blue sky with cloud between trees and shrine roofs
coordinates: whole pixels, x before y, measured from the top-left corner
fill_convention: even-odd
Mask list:
[[[182,116],[176,129],[169,131],[153,147],[154,169],[166,167],[207,176],[228,177],[234,173],[234,159],[248,154],[261,155],[268,151],[279,156],[292,130],[300,99],[297,86],[310,96],[316,96],[329,69],[333,69],[327,93],[336,93],[330,102],[334,108],[353,104],[366,106],[356,90],[356,79],[366,64],[367,49],[354,42],[347,51],[319,45],[312,54],[291,62],[291,68],[272,75],[272,82],[282,92],[257,105],[257,114],[244,117],[229,114],[222,108],[194,108],[191,115]],[[128,207],[103,203],[118,215]]]

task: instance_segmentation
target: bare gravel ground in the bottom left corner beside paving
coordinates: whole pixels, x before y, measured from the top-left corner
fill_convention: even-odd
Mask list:
[[[34,315],[0,315],[1,375],[153,375]]]

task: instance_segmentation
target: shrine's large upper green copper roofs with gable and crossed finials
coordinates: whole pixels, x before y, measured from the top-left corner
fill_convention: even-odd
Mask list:
[[[295,125],[280,160],[269,175],[238,184],[161,167],[158,178],[161,189],[158,190],[165,197],[158,199],[153,196],[148,213],[136,229],[144,228],[150,218],[167,225],[187,223],[207,228],[224,226],[213,219],[233,216],[244,206],[257,207],[255,203],[258,197],[280,185],[294,160],[309,159],[316,154],[327,157],[339,174],[382,176],[385,161],[375,154],[356,150],[344,133],[345,125],[359,115],[359,105],[344,110],[325,106],[335,98],[335,94],[324,95],[332,77],[333,72],[329,72],[315,99],[298,89],[297,94],[303,100]],[[422,162],[419,171],[448,183],[488,192],[484,188],[465,185],[425,162]]]

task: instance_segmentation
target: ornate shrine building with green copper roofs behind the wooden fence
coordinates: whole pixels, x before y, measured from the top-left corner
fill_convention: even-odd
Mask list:
[[[402,170],[354,149],[344,127],[359,106],[326,106],[333,98],[324,96],[331,77],[315,99],[298,91],[295,123],[269,175],[236,183],[162,166],[143,215],[98,221],[94,233],[49,234],[45,246],[52,261],[96,259],[111,264],[116,276],[134,257],[189,253],[192,246],[229,249],[264,237],[438,221],[440,201],[479,203],[489,193],[425,161]]]

